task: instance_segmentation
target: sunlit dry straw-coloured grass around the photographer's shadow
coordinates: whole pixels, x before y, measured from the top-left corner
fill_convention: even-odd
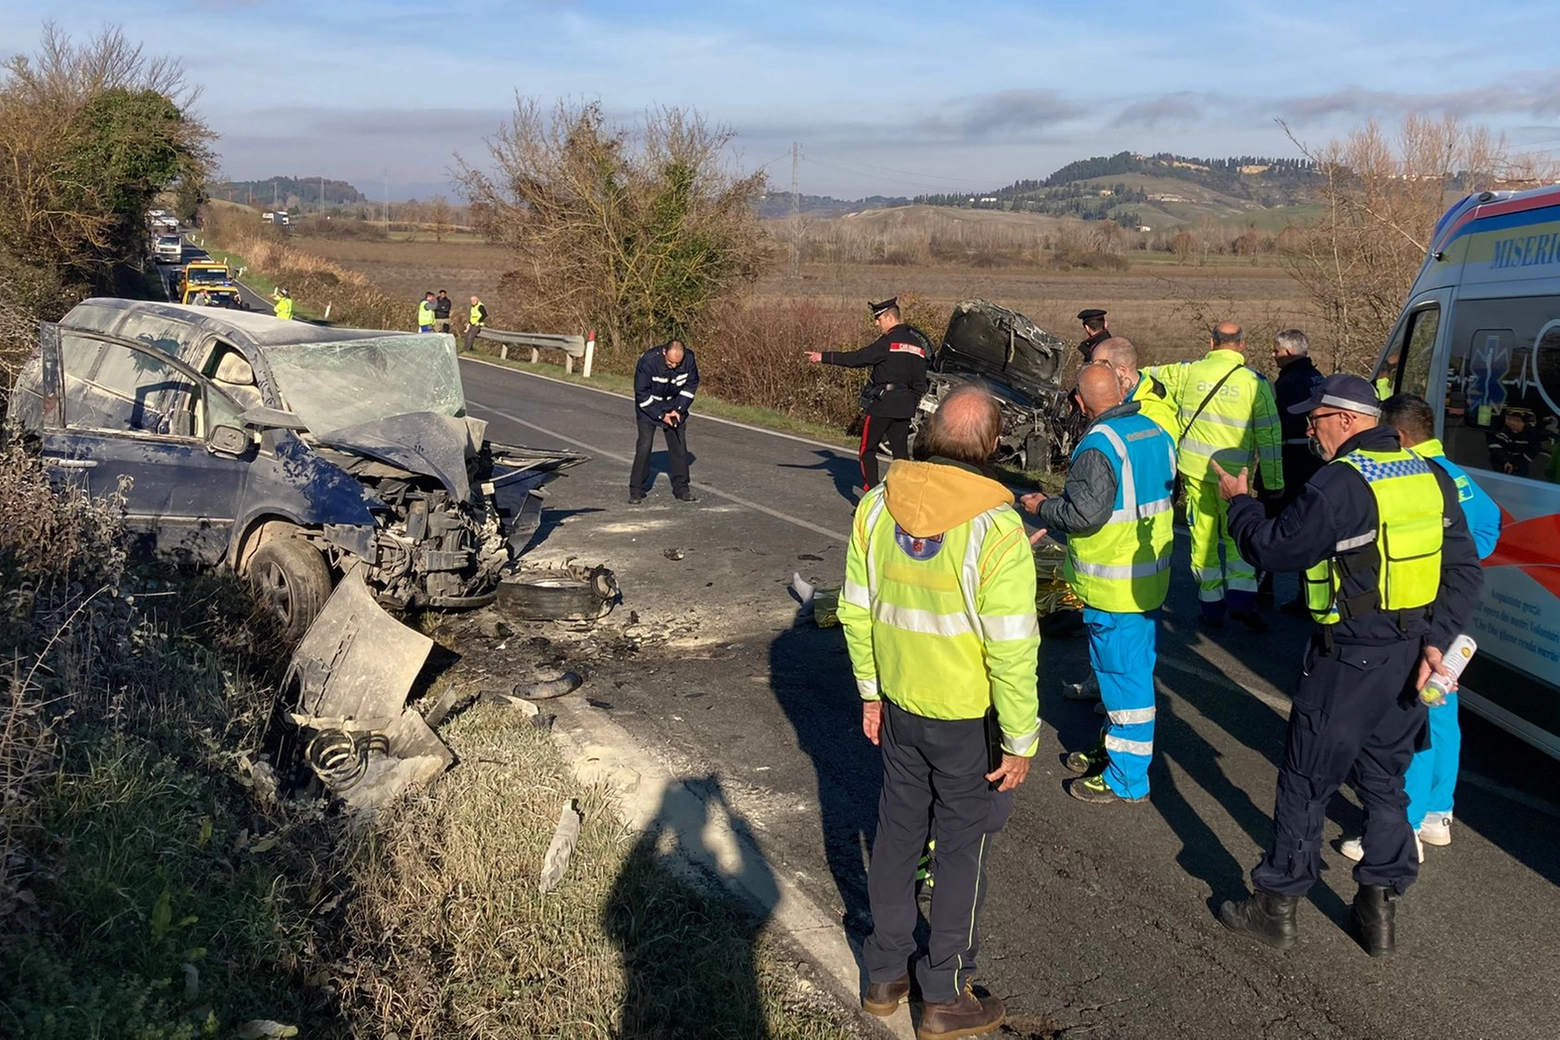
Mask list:
[[[582,792],[544,733],[479,706],[443,734],[462,764],[381,817],[354,872],[343,1001],[365,1035],[855,1035],[755,920],[675,876],[604,789]],[[543,895],[576,795],[579,845]]]

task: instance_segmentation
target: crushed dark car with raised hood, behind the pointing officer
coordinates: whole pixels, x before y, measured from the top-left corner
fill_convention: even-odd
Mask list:
[[[959,301],[927,373],[911,443],[942,398],[981,380],[1002,407],[995,462],[1042,471],[1064,465],[1072,454],[1067,393],[1059,385],[1065,357],[1067,343],[1022,313],[984,299]]]

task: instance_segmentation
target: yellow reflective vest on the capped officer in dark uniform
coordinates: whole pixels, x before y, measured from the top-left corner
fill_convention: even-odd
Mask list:
[[[1435,602],[1441,585],[1446,501],[1431,463],[1410,451],[1353,451],[1329,466],[1349,466],[1376,497],[1376,530],[1340,541],[1331,557],[1306,571],[1306,607],[1323,625],[1385,610]],[[1376,588],[1343,599],[1349,555],[1376,546]]]

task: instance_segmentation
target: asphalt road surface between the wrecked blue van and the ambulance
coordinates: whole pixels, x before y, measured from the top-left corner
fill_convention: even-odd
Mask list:
[[[702,501],[671,497],[658,452],[649,501],[630,507],[629,401],[476,362],[463,374],[493,440],[593,455],[549,488],[537,554],[608,563],[624,589],[616,622],[636,616],[666,638],[599,666],[588,709],[685,775],[713,776],[769,867],[861,932],[877,753],[860,734],[839,630],[797,622],[786,594],[792,571],[841,582],[853,454],[696,415]],[[1178,552],[1150,803],[1097,808],[1064,794],[1059,756],[1090,745],[1098,720],[1059,695],[1086,674],[1083,638],[1042,646],[1044,738],[991,858],[983,920],[980,981],[1008,1001],[1009,1034],[1557,1035],[1560,769],[1468,713],[1455,840],[1426,853],[1401,904],[1399,956],[1371,960],[1345,932],[1354,884],[1334,844],[1360,820],[1346,797],[1329,814],[1299,945],[1275,953],[1220,928],[1211,907],[1246,890],[1270,836],[1306,628],[1273,614],[1262,636],[1200,631]]]

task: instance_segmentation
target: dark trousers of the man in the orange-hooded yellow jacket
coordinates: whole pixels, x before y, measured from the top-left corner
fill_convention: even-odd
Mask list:
[[[892,982],[916,953],[916,864],[927,848],[930,812],[936,887],[928,953],[916,962],[916,978],[925,1001],[952,1001],[975,971],[984,862],[1008,822],[1012,792],[992,791],[986,780],[992,764],[984,719],[925,719],[885,700],[878,747],[883,794],[867,870],[867,979]]]

